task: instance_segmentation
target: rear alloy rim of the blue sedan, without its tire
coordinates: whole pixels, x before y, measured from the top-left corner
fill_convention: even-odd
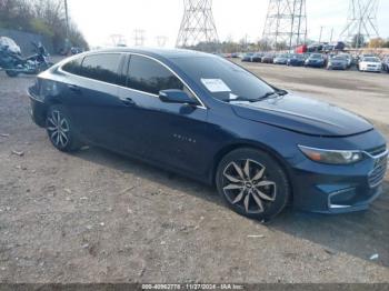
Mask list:
[[[51,112],[47,122],[47,130],[52,143],[58,148],[66,148],[69,143],[69,122],[58,110]]]

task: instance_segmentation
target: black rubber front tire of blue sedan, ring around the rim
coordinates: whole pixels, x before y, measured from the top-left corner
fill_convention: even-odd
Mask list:
[[[245,209],[240,208],[239,205],[231,204],[226,198],[222,189],[222,182],[223,182],[222,175],[226,167],[231,161],[247,160],[247,159],[251,159],[253,161],[259,162],[260,164],[263,164],[267,168],[266,174],[269,175],[269,180],[276,182],[276,185],[277,185],[276,201],[272,202],[268,208],[266,208],[266,211],[263,213],[258,213],[258,214],[247,213]],[[280,167],[279,162],[275,160],[267,152],[257,150],[257,149],[243,148],[243,149],[238,149],[228,153],[220,161],[218,165],[217,174],[216,174],[216,184],[217,184],[219,194],[223,198],[225,202],[229,205],[229,208],[231,208],[233,211],[238,212],[239,214],[251,219],[258,219],[258,220],[265,220],[265,221],[272,219],[285,209],[290,198],[289,181],[288,181],[287,174]]]

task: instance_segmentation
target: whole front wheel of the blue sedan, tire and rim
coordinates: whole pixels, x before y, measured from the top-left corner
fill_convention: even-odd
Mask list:
[[[235,150],[220,161],[216,184],[229,208],[260,221],[280,213],[291,195],[279,163],[265,151],[250,148]]]

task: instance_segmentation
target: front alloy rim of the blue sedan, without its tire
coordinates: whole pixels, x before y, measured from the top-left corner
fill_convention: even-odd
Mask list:
[[[266,167],[250,159],[232,161],[226,167],[222,190],[231,204],[248,214],[263,213],[277,197],[277,185],[267,177]]]

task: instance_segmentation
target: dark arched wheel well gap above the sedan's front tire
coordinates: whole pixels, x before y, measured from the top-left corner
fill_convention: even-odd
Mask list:
[[[229,154],[230,152],[238,150],[238,149],[253,149],[253,150],[261,150],[265,151],[266,153],[268,153],[271,158],[273,158],[279,165],[281,167],[281,169],[285,171],[287,179],[288,179],[288,183],[290,185],[290,198],[292,200],[293,198],[293,187],[291,183],[291,178],[290,178],[290,172],[289,169],[286,164],[286,162],[283,161],[283,159],[273,150],[269,149],[268,147],[263,146],[263,144],[253,144],[253,143],[235,143],[235,144],[230,144],[227,146],[226,148],[221,149],[215,157],[213,159],[213,168],[212,168],[212,177],[211,177],[211,183],[215,185],[216,184],[216,174],[217,174],[217,170],[219,167],[219,163],[221,162],[221,160]]]

